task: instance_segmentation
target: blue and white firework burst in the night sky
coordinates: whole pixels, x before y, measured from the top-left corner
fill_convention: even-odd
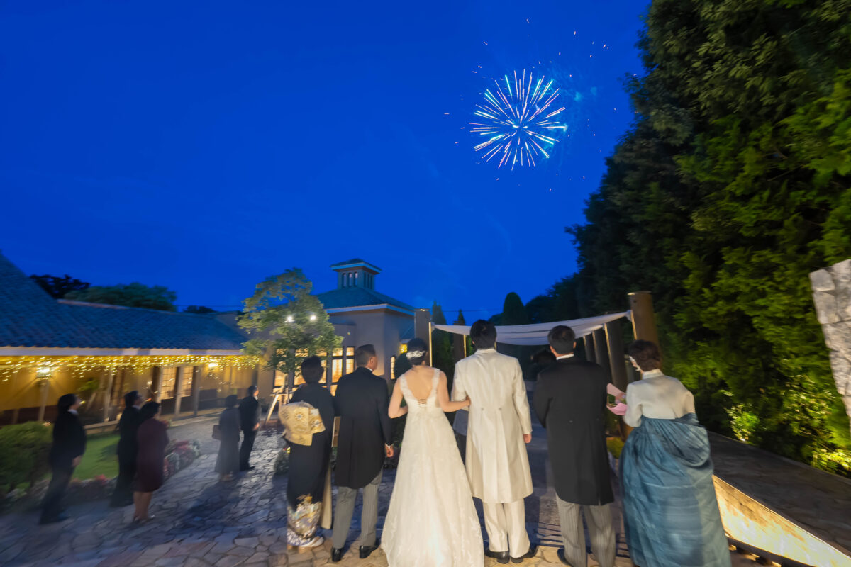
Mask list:
[[[534,167],[535,159],[549,157],[552,145],[558,140],[553,136],[568,127],[557,122],[564,107],[557,106],[558,88],[552,81],[544,82],[543,76],[534,80],[530,71],[526,77],[524,69],[520,77],[514,71],[514,81],[505,75],[505,90],[500,81],[494,79],[495,92],[486,89],[484,103],[476,105],[476,116],[487,123],[470,122],[471,132],[487,139],[475,146],[484,150],[484,160],[490,162],[498,157],[500,165],[511,164],[511,169],[520,166]],[[548,151],[549,150],[549,151]]]

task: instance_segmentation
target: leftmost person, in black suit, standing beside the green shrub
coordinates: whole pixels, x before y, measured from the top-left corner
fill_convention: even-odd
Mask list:
[[[53,524],[68,519],[61,511],[62,496],[65,496],[65,490],[71,482],[71,474],[86,451],[86,432],[77,417],[77,408],[80,407],[77,394],[60,396],[56,405],[59,413],[54,421],[54,442],[50,447],[49,456],[53,477],[42,501],[40,524]]]

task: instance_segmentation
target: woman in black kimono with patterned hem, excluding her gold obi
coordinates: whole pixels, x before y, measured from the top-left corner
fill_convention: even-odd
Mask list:
[[[316,547],[323,543],[317,531],[334,433],[334,398],[319,384],[323,374],[322,359],[318,356],[306,359],[301,364],[301,377],[306,383],[293,394],[292,402],[306,402],[319,411],[325,430],[314,433],[310,445],[289,444],[287,543],[292,547]]]

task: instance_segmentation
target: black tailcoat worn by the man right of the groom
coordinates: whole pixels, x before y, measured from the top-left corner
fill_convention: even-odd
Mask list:
[[[606,385],[601,366],[575,357],[538,374],[532,405],[546,428],[556,493],[564,502],[614,502],[606,449]]]

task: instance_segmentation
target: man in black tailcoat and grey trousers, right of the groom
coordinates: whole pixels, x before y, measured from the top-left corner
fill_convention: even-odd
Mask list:
[[[585,530],[600,567],[614,565],[614,502],[606,456],[606,385],[603,368],[574,357],[575,335],[568,326],[552,328],[547,337],[556,361],[538,374],[532,404],[546,428],[562,524],[563,564],[585,567]]]

